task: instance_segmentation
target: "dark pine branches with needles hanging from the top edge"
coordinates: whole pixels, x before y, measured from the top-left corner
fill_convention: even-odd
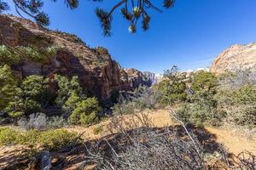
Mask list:
[[[9,9],[6,0],[0,0],[0,13]],[[42,10],[44,6],[44,0],[12,0],[15,4],[15,10],[20,16],[27,14],[34,19],[41,26],[49,26],[49,16]],[[56,2],[57,0],[52,0]],[[101,2],[102,0],[93,0],[95,2]],[[162,9],[156,7],[153,0],[121,0],[116,3],[109,12],[102,8],[96,8],[96,15],[100,20],[103,35],[106,37],[111,36],[111,22],[113,19],[113,11],[120,8],[120,13],[124,16],[125,20],[130,23],[129,31],[135,33],[137,31],[137,23],[142,21],[143,31],[147,31],[149,28],[150,16],[148,9],[152,8],[155,11],[162,13]],[[64,0],[67,8],[78,8],[79,0]],[[172,8],[175,0],[163,0],[164,8]]]

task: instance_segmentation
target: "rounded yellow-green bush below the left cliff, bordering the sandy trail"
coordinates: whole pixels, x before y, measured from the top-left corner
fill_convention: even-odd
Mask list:
[[[73,110],[69,121],[73,124],[88,125],[98,121],[99,103],[96,98],[82,100]]]

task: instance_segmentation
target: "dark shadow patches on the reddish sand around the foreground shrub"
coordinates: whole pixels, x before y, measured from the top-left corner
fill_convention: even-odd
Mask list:
[[[188,138],[187,134],[184,131],[184,128],[181,126],[177,125],[167,128],[170,131],[175,131],[178,137]],[[154,127],[150,130],[164,131],[164,128]],[[199,140],[205,152],[212,154],[215,151],[223,150],[221,144],[218,144],[216,142],[216,136],[214,134],[209,133],[207,129],[189,127],[189,131],[195,134],[195,137]],[[117,145],[117,141],[122,140],[121,136],[117,133],[110,134],[108,136],[103,137],[102,139],[108,139],[109,144],[111,144],[113,147]],[[88,156],[86,147],[87,149],[90,148],[99,140],[101,139],[85,141],[83,144],[77,144],[73,147],[66,148],[65,150],[50,152],[53,166],[51,169],[63,169],[64,167],[65,169],[79,169],[79,167],[85,161],[85,156]],[[24,150],[24,148],[22,147],[18,147],[16,149],[13,147],[11,148],[11,150],[7,150],[6,152],[3,152],[2,155],[0,155],[0,169],[28,169],[28,164],[30,163],[30,161],[32,161],[32,158],[26,156],[27,150]],[[99,148],[103,150],[105,153],[111,152],[108,144],[106,143],[99,143]],[[118,148],[114,149],[118,150]],[[87,167],[85,169],[93,169],[92,164],[88,164],[85,167]],[[33,167],[32,169],[38,168]]]

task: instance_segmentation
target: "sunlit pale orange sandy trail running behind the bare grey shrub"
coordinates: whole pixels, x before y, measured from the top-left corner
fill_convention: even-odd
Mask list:
[[[172,122],[170,111],[158,110],[147,112],[148,116],[152,118],[152,121],[156,127],[172,126],[175,124],[175,122]],[[73,127],[68,128],[68,130],[75,131],[77,133],[84,133],[83,139],[98,139],[109,134],[107,128],[108,123],[109,120],[106,120],[90,127]],[[103,126],[102,133],[93,133],[94,129],[99,126]],[[253,152],[253,154],[256,154],[256,138],[247,139],[245,133],[231,127],[226,129],[206,127],[206,129],[209,133],[215,135],[216,141],[224,144],[230,153],[237,155],[243,150],[248,150]]]

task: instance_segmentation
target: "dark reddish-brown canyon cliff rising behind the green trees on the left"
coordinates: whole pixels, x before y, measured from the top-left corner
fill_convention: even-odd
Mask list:
[[[143,81],[140,73],[133,77],[130,71],[122,70],[119,63],[111,59],[107,49],[89,48],[79,37],[50,31],[31,20],[12,15],[0,15],[0,45],[9,48],[30,45],[55,47],[55,56],[44,62],[24,59],[19,64],[11,65],[13,71],[20,79],[34,74],[45,77],[53,77],[54,74],[78,76],[83,88],[102,101],[115,91],[131,90]]]

